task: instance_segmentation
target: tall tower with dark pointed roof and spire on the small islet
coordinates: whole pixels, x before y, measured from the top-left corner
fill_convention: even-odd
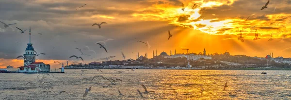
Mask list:
[[[31,27],[29,27],[29,43],[27,44],[27,47],[25,49],[25,54],[23,54],[23,56],[26,57],[23,63],[24,66],[35,62],[36,54],[34,54],[34,49],[31,43]]]

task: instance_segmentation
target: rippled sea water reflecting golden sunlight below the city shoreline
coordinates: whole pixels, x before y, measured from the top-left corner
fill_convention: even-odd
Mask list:
[[[0,74],[0,100],[291,100],[291,71],[267,71],[267,75],[251,70],[102,71],[65,69],[65,74],[45,75],[43,82],[39,82],[38,74]],[[95,75],[122,82],[112,85],[101,77],[82,80]],[[35,85],[26,85],[28,82]],[[43,85],[44,82],[51,82],[52,86]],[[155,92],[143,93],[144,98],[141,97],[137,89],[145,90],[140,84]],[[112,87],[102,87],[108,85]],[[45,86],[53,89],[42,89]],[[83,98],[85,88],[90,86],[91,91]],[[124,96],[119,95],[118,89]],[[67,93],[55,95],[53,91]]]

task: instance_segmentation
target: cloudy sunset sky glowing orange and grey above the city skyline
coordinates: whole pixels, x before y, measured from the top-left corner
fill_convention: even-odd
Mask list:
[[[270,0],[268,8],[260,10],[268,0],[0,0],[0,21],[17,23],[5,28],[0,24],[0,67],[23,65],[23,55],[32,29],[33,48],[38,53],[36,62],[51,64],[71,63],[71,55],[81,56],[75,48],[92,56],[82,56],[84,63],[115,55],[112,60],[136,58],[136,52],[152,58],[152,51],[172,54],[189,52],[244,54],[264,57],[291,57],[291,1]],[[182,3],[185,11],[182,11]],[[76,10],[78,7],[84,7]],[[193,5],[197,7],[193,9]],[[249,17],[247,19],[247,17]],[[247,19],[247,20],[246,20]],[[98,26],[94,23],[107,22]],[[25,30],[21,34],[15,26]],[[255,29],[259,40],[253,40]],[[168,30],[173,37],[168,39]],[[244,42],[238,40],[242,31]],[[42,33],[42,35],[38,34]],[[268,41],[271,34],[274,40]],[[106,42],[105,50],[97,41]],[[148,41],[145,44],[137,42]],[[85,46],[84,46],[85,45]],[[78,60],[80,61],[80,60]],[[99,61],[97,61],[99,62]],[[69,64],[70,64],[69,63]]]

